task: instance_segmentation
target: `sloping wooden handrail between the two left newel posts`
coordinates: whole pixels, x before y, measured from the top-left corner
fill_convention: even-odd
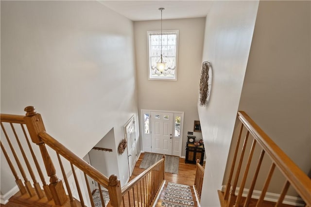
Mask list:
[[[59,143],[47,132],[43,131],[39,133],[39,137],[44,143],[49,145],[53,150],[69,160],[72,164],[78,167],[80,170],[85,172],[87,175],[92,177],[94,180],[99,182],[105,188],[108,188],[109,178],[104,176],[101,172],[96,170],[94,167],[89,165],[86,161],[78,157],[76,154],[67,149],[63,144]]]

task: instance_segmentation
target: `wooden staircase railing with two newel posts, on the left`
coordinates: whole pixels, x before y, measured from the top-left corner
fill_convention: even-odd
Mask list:
[[[165,157],[146,169],[142,174],[135,177],[121,189],[120,180],[116,175],[110,175],[109,178],[106,177],[50,136],[45,131],[41,115],[36,113],[34,107],[26,107],[25,111],[26,116],[1,114],[1,131],[6,138],[6,143],[3,143],[2,140],[0,142],[1,150],[15,177],[19,192],[22,195],[28,194],[31,198],[37,197],[37,199],[43,199],[44,203],[46,203],[46,199],[48,199],[49,204],[53,202],[53,204],[57,206],[77,207],[81,205],[94,207],[92,192],[90,191],[88,183],[88,177],[91,177],[97,182],[99,189],[104,187],[108,190],[110,206],[120,207],[122,205],[123,207],[132,207],[134,205],[135,207],[147,207],[155,202],[155,197],[157,193],[159,193],[161,185],[164,183]],[[12,137],[15,137],[17,144],[12,143]],[[28,137],[31,138],[33,143],[29,141]],[[34,147],[34,143],[39,146],[39,150]],[[7,145],[10,148],[10,152],[5,148]],[[15,148],[16,145],[18,145],[19,148],[18,152]],[[28,148],[26,147],[27,149],[24,147],[26,145],[28,146]],[[54,166],[55,160],[53,162],[47,146],[56,153],[65,186],[63,185],[63,181],[56,175]],[[25,151],[30,152],[32,160],[29,160],[30,158],[27,157]],[[35,155],[35,152],[38,153],[38,151],[40,151],[39,153],[41,156]],[[20,154],[22,155],[21,158],[18,156]],[[13,155],[16,164],[10,159],[10,155]],[[21,159],[23,159],[23,161]],[[63,164],[64,160],[67,162],[66,164]],[[30,163],[34,163],[37,172],[34,172],[33,165]],[[44,175],[41,170],[41,163],[44,163],[47,175],[50,177],[49,184],[46,182],[47,176]],[[57,163],[57,161],[55,163]],[[17,172],[16,166],[19,172]],[[25,166],[28,172],[25,172]],[[71,183],[69,183],[68,180],[70,169],[75,187],[70,185]],[[84,175],[85,181],[83,181],[81,177],[79,180],[76,171]],[[19,177],[20,175],[23,181]],[[31,176],[33,185],[28,180],[27,175]],[[42,189],[40,183],[36,180],[36,175],[40,177]],[[83,189],[80,187],[82,185],[86,186],[87,191],[81,190]],[[79,202],[73,197],[73,190],[77,191]],[[104,206],[102,191],[100,191],[100,197],[102,205]],[[86,201],[85,198],[87,199]],[[16,201],[16,198],[14,198],[14,200]],[[31,200],[27,198],[27,202],[31,202]]]

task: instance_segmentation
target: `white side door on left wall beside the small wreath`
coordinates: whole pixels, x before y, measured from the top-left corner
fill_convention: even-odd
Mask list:
[[[124,127],[125,139],[127,140],[127,158],[130,176],[132,176],[135,163],[136,163],[136,150],[135,150],[135,127],[134,116],[127,122]]]

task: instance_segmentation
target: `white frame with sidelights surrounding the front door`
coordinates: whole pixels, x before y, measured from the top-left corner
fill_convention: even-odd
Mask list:
[[[139,119],[139,131],[141,134],[141,138],[142,138],[142,142],[141,142],[141,149],[142,152],[151,152],[151,133],[149,134],[145,134],[144,133],[144,114],[148,113],[149,114],[149,118],[150,118],[150,113],[151,111],[155,111],[155,112],[166,112],[166,113],[173,113],[173,118],[175,120],[176,116],[180,116],[181,117],[181,121],[180,121],[180,134],[179,137],[175,137],[175,121],[173,121],[173,143],[172,143],[172,154],[173,154],[173,149],[175,148],[174,143],[176,143],[175,141],[179,141],[179,152],[178,155],[177,154],[173,154],[175,156],[179,156],[181,157],[181,153],[182,153],[182,144],[183,144],[183,128],[184,128],[184,111],[164,111],[164,110],[146,110],[146,109],[141,109],[140,110],[140,119]],[[149,119],[150,121],[150,119]],[[151,127],[151,125],[149,124],[149,127]],[[150,132],[150,131],[149,131]],[[150,146],[149,143],[147,143],[145,141],[146,139],[150,139]],[[148,145],[145,145],[148,144]]]

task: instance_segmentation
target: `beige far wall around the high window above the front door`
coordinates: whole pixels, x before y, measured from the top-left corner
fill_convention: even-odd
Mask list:
[[[165,16],[164,11],[163,16]],[[159,14],[160,15],[160,14]],[[163,20],[163,30],[179,30],[177,81],[148,80],[147,31],[160,30],[160,21],[134,22],[138,108],[146,110],[184,111],[183,151],[187,132],[193,131],[197,110],[205,18]],[[194,132],[202,138],[202,134]]]

